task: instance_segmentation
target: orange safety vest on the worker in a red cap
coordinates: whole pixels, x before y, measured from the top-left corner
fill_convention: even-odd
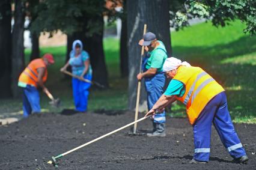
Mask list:
[[[25,68],[25,70],[20,74],[19,82],[26,83],[28,85],[33,85],[34,87],[37,87],[38,83],[38,68],[44,67],[44,75],[43,75],[43,82],[46,82],[47,80],[47,68],[44,64],[43,59],[38,58],[34,59],[31,62],[29,62],[28,66]]]

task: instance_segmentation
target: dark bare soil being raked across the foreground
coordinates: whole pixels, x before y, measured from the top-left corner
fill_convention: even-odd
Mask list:
[[[109,116],[111,115],[111,116]],[[139,115],[142,117],[142,114]],[[105,135],[134,120],[133,112],[118,114],[41,114],[0,127],[0,169],[55,169],[52,156]],[[249,156],[247,165],[232,163],[216,130],[212,132],[210,162],[191,165],[192,127],[187,119],[167,118],[166,138],[128,135],[130,128],[87,145],[59,159],[59,169],[255,169],[256,125],[235,124]],[[151,129],[144,120],[138,129]]]

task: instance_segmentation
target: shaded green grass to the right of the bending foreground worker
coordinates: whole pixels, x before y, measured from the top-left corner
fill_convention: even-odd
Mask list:
[[[256,52],[256,37],[245,36],[228,44],[205,47],[174,46],[174,56],[206,70],[227,93],[231,117],[256,117],[256,65],[221,64],[227,58]],[[243,56],[246,61],[246,56]],[[234,59],[235,61],[235,59]]]

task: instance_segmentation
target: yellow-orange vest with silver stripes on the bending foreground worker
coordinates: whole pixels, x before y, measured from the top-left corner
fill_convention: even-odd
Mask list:
[[[173,77],[184,84],[186,91],[177,100],[184,103],[190,124],[194,124],[204,107],[217,94],[225,91],[213,77],[200,67],[178,67]]]

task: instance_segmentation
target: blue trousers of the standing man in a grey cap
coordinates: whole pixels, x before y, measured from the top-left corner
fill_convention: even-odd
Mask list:
[[[157,102],[163,94],[163,87],[165,85],[165,75],[163,73],[156,74],[153,77],[145,78],[145,89],[147,91],[148,110],[153,108],[154,103]],[[154,123],[165,123],[165,111],[162,114],[156,114],[153,117]]]

